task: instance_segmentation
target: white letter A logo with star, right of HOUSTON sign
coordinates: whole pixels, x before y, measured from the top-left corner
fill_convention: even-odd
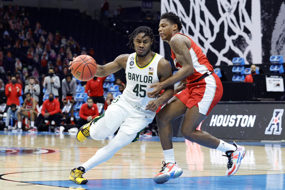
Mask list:
[[[264,134],[281,134],[282,131],[282,115],[284,113],[284,109],[274,109],[273,116],[265,129]],[[273,130],[274,129],[274,130]]]

